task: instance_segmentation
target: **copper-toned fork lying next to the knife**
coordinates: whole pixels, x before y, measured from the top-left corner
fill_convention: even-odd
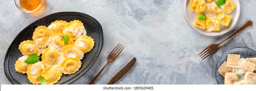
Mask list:
[[[120,43],[119,43],[120,44]],[[119,45],[118,44],[118,45]],[[118,45],[116,45],[116,47],[118,46]],[[108,55],[108,58],[107,58],[107,63],[105,64],[105,66],[102,68],[102,70],[91,80],[91,82],[89,83],[89,85],[93,85],[95,82],[96,82],[96,80],[99,78],[99,76],[100,76],[100,74],[103,72],[103,70],[107,67],[107,65],[109,64],[109,63],[112,63],[112,62],[114,62],[115,60],[116,60],[116,58],[119,56],[119,54],[122,52],[122,50],[124,49],[124,47],[123,47],[123,45],[121,46],[122,44],[120,44],[118,47],[117,47],[117,49],[116,49],[116,47],[109,53],[109,55]],[[120,47],[121,46],[121,47]],[[119,48],[120,47],[120,48]],[[115,50],[116,49],[116,50]],[[118,50],[119,49],[119,50]],[[121,51],[120,51],[120,49],[121,49]],[[115,51],[114,51],[115,50]],[[118,51],[117,51],[118,50]],[[117,51],[117,52],[116,52]],[[120,52],[119,52],[120,51]]]

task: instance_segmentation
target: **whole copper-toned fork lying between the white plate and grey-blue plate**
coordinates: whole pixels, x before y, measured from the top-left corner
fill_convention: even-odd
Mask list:
[[[235,36],[236,34],[238,34],[239,32],[242,32],[243,30],[250,28],[252,26],[252,21],[247,20],[245,22],[245,24],[243,26],[241,26],[239,29],[237,29],[235,32],[233,32],[231,35],[229,35],[225,40],[223,40],[222,42],[220,42],[219,44],[211,44],[208,47],[206,47],[200,54],[203,56],[201,59],[204,60],[205,58],[207,58],[209,55],[213,54],[214,52],[217,51],[219,45],[221,45],[223,42],[225,42],[226,40],[228,40],[229,38]],[[207,55],[208,54],[208,55]],[[207,55],[207,56],[206,56]],[[205,58],[204,58],[205,57]]]

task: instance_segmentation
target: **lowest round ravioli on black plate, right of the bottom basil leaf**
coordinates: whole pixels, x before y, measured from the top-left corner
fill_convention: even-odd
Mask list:
[[[60,80],[60,78],[62,76],[62,72],[61,72],[59,66],[50,65],[47,68],[45,68],[42,76],[45,78],[46,84],[53,85]]]

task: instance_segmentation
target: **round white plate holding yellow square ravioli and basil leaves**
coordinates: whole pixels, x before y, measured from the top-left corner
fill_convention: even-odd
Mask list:
[[[232,19],[229,22],[228,26],[224,26],[220,24],[220,31],[212,31],[212,32],[207,32],[206,29],[201,29],[197,26],[194,25],[194,20],[196,19],[196,16],[199,13],[195,13],[195,11],[190,10],[189,6],[190,6],[190,1],[191,0],[186,0],[185,1],[185,5],[184,5],[184,12],[185,12],[185,17],[187,19],[187,22],[189,23],[189,25],[196,31],[199,32],[203,35],[206,36],[218,36],[221,34],[224,34],[228,31],[230,31],[236,24],[237,20],[239,19],[240,16],[240,2],[239,0],[232,0],[234,2],[234,4],[236,5],[235,10],[233,10],[233,12],[231,12],[229,15],[232,17]],[[206,0],[206,2],[208,2]]]

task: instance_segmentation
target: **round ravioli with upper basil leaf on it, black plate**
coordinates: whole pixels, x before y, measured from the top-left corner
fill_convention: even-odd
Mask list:
[[[69,37],[69,40],[66,44],[64,44],[64,39],[66,37],[66,34],[63,33],[56,33],[53,34],[51,37],[51,45],[57,48],[58,50],[61,50],[62,47],[68,46],[68,45],[73,45],[74,42],[73,40]]]

